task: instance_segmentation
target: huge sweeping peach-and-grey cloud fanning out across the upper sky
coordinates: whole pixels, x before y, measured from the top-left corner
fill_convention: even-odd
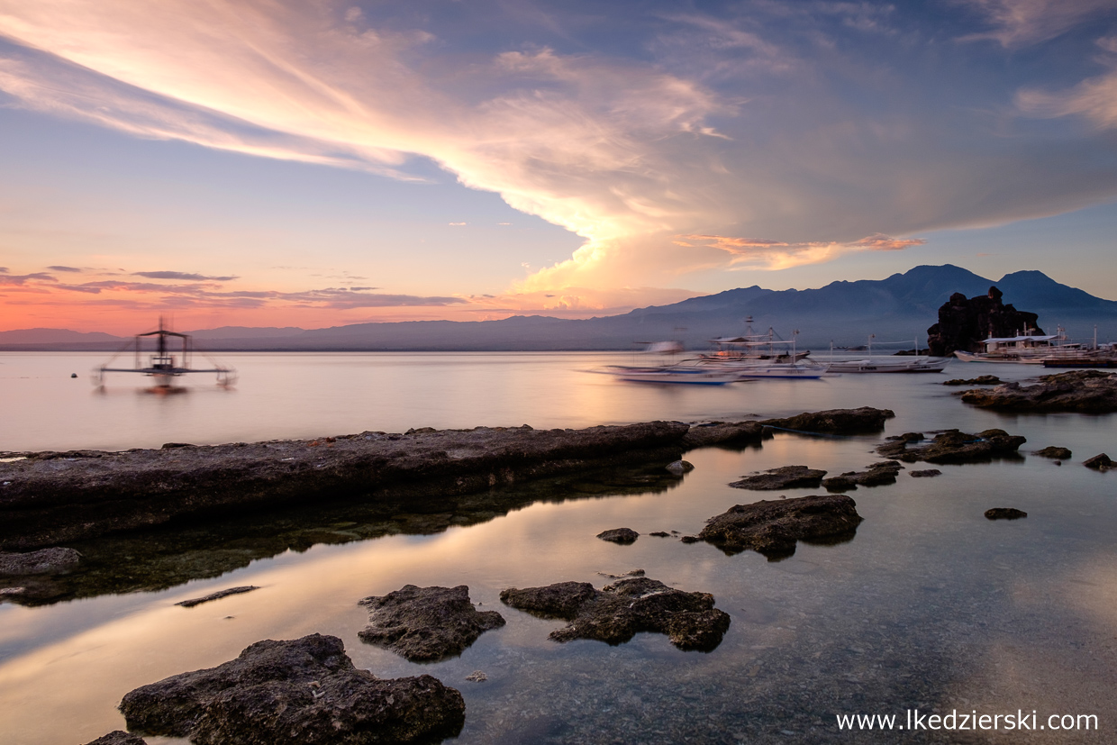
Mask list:
[[[964,38],[1015,48],[1108,2],[972,0],[943,12],[957,22],[962,8],[971,26],[976,12],[987,28]],[[475,29],[437,15],[333,0],[0,0],[0,35],[12,40],[0,88],[137,136],[400,179],[435,162],[584,239],[508,293],[577,298],[567,306],[618,307],[632,287],[688,273],[899,250],[914,243],[887,236],[1117,194],[1117,170],[1099,165],[1107,143],[991,117],[991,99],[1018,80],[982,87],[995,66],[941,65],[935,29],[904,3],[710,8],[630,19],[605,3],[595,28],[624,29],[608,49],[551,26],[550,44],[521,41],[534,37],[517,27],[502,37],[515,42],[483,49]],[[508,18],[486,2],[469,17]],[[942,70],[934,95],[922,93],[927,69]],[[1108,78],[1091,85],[1046,99],[1029,88],[1019,105],[1109,121]]]

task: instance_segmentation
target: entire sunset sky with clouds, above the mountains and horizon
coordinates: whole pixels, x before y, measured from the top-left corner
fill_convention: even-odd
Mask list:
[[[1117,0],[0,0],[0,331],[1117,298]]]

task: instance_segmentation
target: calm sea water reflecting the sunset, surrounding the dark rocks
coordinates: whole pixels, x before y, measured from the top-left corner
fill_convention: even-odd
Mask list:
[[[691,451],[694,471],[645,493],[633,494],[620,476],[610,486],[588,475],[583,483],[525,486],[491,514],[462,504],[422,516],[338,507],[317,518],[260,516],[261,524],[281,526],[261,527],[255,537],[232,525],[227,534],[152,534],[131,547],[124,541],[106,544],[103,551],[117,557],[111,562],[116,592],[165,589],[90,592],[38,608],[0,605],[0,741],[88,742],[123,727],[115,705],[136,686],[219,665],[259,639],[312,632],[341,637],[356,665],[378,676],[429,672],[461,690],[461,743],[1115,739],[1117,474],[1079,465],[1117,450],[1114,417],[1001,417],[965,407],[953,389],[938,384],[953,376],[1023,379],[1040,372],[1025,366],[955,364],[944,375],[684,390],[576,372],[626,357],[228,355],[223,361],[241,372],[238,390],[200,388],[160,398],[124,385],[94,394],[68,379],[79,363],[98,362],[95,355],[0,355],[0,405],[16,412],[0,441],[7,450],[422,426],[732,420],[856,405],[897,413],[879,436],[779,433],[762,448]],[[726,486],[748,471],[789,464],[831,474],[861,469],[879,460],[872,447],[886,434],[947,427],[1001,427],[1029,441],[1018,460],[939,466],[943,475],[926,479],[901,472],[896,485],[858,489],[851,496],[865,522],[851,541],[801,543],[781,562],[646,535],[696,533],[734,504],[817,493]],[[1069,447],[1072,461],[1060,467],[1028,455],[1048,445]],[[1029,516],[982,516],[1002,506]],[[621,526],[645,535],[631,546],[594,537]],[[424,531],[438,532],[418,534]],[[379,537],[363,537],[370,535]],[[140,555],[154,546],[168,546],[159,561]],[[207,555],[220,560],[217,570],[194,567]],[[238,569],[225,571],[221,561]],[[722,644],[709,653],[681,652],[659,634],[639,634],[618,647],[557,644],[546,636],[562,622],[498,600],[507,586],[577,580],[600,588],[610,581],[601,573],[638,567],[674,586],[713,593],[733,619]],[[225,573],[183,582],[207,572]],[[461,657],[431,665],[362,643],[356,632],[366,617],[356,601],[408,583],[468,584],[475,602],[499,610],[508,623],[483,634]],[[173,605],[240,584],[261,589],[190,610]],[[474,670],[488,680],[466,681]],[[1095,714],[1100,729],[872,736],[839,732],[836,724],[836,715],[856,713],[898,714],[903,724],[909,708],[1035,709],[1041,724],[1050,714]]]

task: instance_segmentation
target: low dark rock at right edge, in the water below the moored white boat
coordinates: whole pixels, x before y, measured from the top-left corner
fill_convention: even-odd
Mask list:
[[[1034,385],[1004,383],[992,390],[964,391],[962,400],[996,411],[1109,413],[1117,411],[1117,373],[1073,370],[1041,375]]]

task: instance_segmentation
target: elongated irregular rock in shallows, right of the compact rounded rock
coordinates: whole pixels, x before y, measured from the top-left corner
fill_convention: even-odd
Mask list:
[[[620,644],[641,631],[666,633],[679,649],[710,651],[722,643],[729,615],[714,608],[714,595],[685,592],[650,577],[621,580],[595,590],[589,582],[515,588],[500,593],[513,608],[570,625],[551,632],[555,641],[596,639]]]

